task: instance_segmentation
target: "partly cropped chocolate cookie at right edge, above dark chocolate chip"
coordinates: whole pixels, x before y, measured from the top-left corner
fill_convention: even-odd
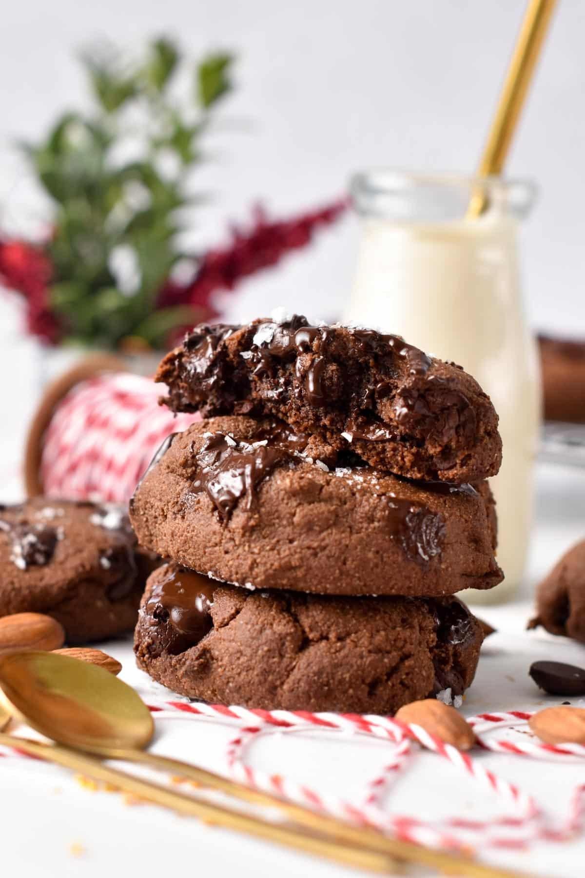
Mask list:
[[[529,628],[542,625],[551,634],[585,644],[585,540],[567,551],[540,583],[536,608]]]

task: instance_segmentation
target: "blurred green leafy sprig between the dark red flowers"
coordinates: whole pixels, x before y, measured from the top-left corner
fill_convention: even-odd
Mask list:
[[[65,113],[44,140],[23,145],[54,205],[49,297],[65,342],[117,348],[138,337],[156,345],[169,328],[197,320],[185,306],[153,311],[183,256],[176,237],[180,211],[193,201],[189,172],[232,89],[232,62],[216,53],[189,64],[191,94],[180,102],[173,86],[188,62],[173,41],[153,40],[134,64],[111,47],[86,53],[92,110]],[[125,158],[129,148],[139,158]]]

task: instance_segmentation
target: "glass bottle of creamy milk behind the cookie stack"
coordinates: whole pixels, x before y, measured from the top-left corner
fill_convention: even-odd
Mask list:
[[[478,192],[487,209],[467,219]],[[466,591],[466,601],[509,598],[528,548],[540,387],[518,281],[517,229],[533,197],[530,185],[499,178],[373,171],[353,179],[362,231],[344,320],[403,335],[459,363],[500,416],[503,464],[491,486],[505,580],[491,592]]]

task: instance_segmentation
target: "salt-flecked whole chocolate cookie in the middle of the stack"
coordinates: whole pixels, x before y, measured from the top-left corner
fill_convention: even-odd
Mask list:
[[[282,422],[199,421],[155,458],[132,526],[148,549],[240,586],[440,596],[503,579],[487,482],[414,483],[359,464]]]

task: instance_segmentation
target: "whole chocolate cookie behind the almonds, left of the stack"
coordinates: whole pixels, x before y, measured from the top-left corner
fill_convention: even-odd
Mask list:
[[[0,507],[0,616],[51,615],[68,644],[132,630],[159,564],[122,507],[44,497]]]

